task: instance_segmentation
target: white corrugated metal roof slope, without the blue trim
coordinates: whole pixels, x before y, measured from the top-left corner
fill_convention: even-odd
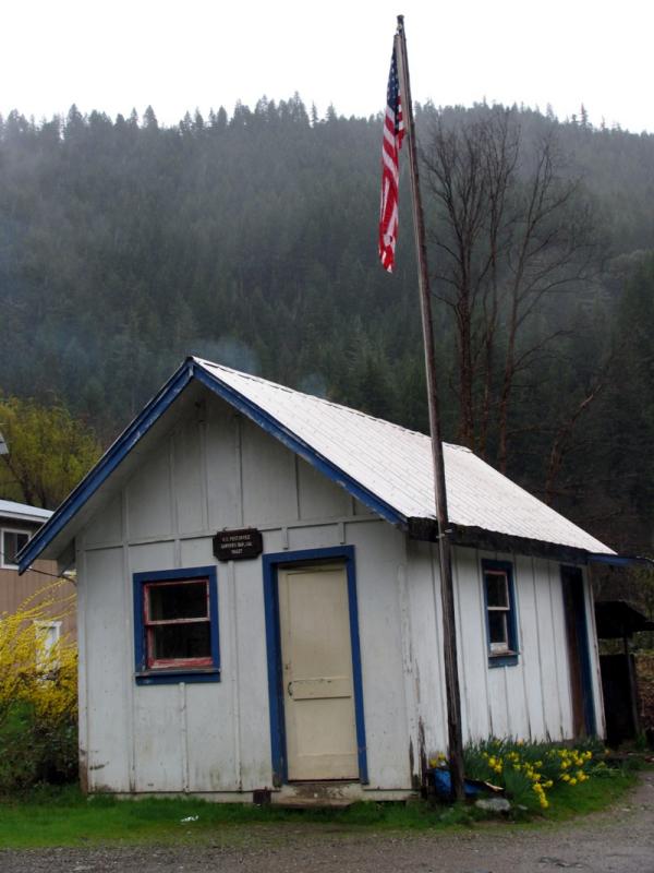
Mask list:
[[[258,376],[195,360],[401,515],[435,517],[428,436]],[[468,449],[445,443],[444,454],[452,524],[613,553]]]

